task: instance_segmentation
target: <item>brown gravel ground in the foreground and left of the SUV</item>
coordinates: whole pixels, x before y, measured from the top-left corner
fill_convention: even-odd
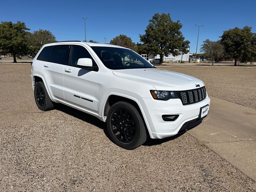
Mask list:
[[[188,133],[124,150],[93,116],[63,105],[38,110],[29,64],[0,68],[0,191],[256,191]]]

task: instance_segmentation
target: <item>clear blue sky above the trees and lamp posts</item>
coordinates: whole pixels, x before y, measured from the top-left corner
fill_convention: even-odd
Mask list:
[[[190,41],[190,52],[196,52],[203,40],[218,40],[224,30],[234,27],[252,27],[256,32],[255,0],[14,0],[2,4],[0,21],[25,22],[30,32],[38,29],[50,30],[58,41],[86,39],[109,42],[119,34],[125,34],[136,43],[139,34],[144,34],[148,20],[154,13],[170,13],[172,20],[180,20],[186,40]]]

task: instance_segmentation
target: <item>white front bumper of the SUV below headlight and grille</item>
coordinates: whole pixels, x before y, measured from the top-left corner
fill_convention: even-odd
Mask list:
[[[150,137],[165,138],[176,135],[186,122],[194,120],[197,124],[200,123],[198,120],[200,108],[207,104],[210,106],[210,98],[207,96],[201,102],[185,106],[180,99],[161,101],[142,98],[140,103],[149,124]],[[179,117],[175,121],[164,121],[162,115],[166,114],[178,114]]]

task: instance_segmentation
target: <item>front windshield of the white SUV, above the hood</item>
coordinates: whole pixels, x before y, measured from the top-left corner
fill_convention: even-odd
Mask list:
[[[130,49],[100,46],[91,48],[109,69],[155,68]]]

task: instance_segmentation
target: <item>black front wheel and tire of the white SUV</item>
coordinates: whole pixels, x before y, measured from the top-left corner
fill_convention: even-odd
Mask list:
[[[147,140],[143,119],[132,104],[127,102],[113,104],[106,123],[112,141],[124,149],[137,148]]]

